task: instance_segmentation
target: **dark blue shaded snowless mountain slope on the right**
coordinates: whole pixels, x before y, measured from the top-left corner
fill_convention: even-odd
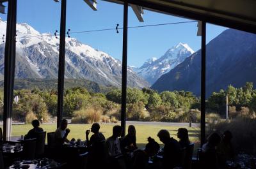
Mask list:
[[[206,95],[226,89],[256,84],[256,34],[234,29],[223,31],[206,46]],[[184,90],[200,95],[201,50],[198,50],[170,72],[162,75],[152,89]]]

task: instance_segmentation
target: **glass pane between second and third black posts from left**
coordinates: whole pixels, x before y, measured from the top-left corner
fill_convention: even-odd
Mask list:
[[[99,1],[97,9],[84,1],[67,2],[70,38],[66,38],[63,118],[71,122],[68,139],[84,140],[93,122],[100,122],[100,132],[108,138],[113,126],[120,124],[123,36],[115,27],[123,25],[123,6]]]

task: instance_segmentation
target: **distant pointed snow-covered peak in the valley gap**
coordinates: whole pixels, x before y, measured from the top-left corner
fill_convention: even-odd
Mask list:
[[[157,59],[148,59],[140,68],[133,68],[141,77],[150,84],[154,84],[161,75],[168,73],[178,64],[183,62],[194,51],[186,43],[179,43],[167,50],[167,52]]]

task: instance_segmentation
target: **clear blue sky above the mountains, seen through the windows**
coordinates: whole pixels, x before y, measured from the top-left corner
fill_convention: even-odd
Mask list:
[[[41,33],[60,30],[60,3],[53,0],[18,1],[17,22],[26,22]],[[70,32],[115,28],[123,25],[123,6],[98,1],[98,11],[93,11],[83,0],[67,0],[67,29]],[[6,20],[6,15],[0,15]],[[189,21],[152,11],[145,11],[145,22],[139,22],[129,8],[128,26],[143,26]],[[218,36],[226,27],[207,24],[207,42]],[[179,42],[188,43],[193,50],[200,49],[201,37],[196,36],[196,22],[169,26],[129,29],[128,64],[141,66],[148,58],[161,57],[168,48]],[[122,61],[122,30],[71,34],[77,40],[97,48]]]

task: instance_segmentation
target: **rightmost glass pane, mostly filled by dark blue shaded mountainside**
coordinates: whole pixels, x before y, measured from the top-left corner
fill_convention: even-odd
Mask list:
[[[215,36],[207,40],[207,136],[216,132],[222,138],[219,165],[235,160],[252,168],[246,161],[256,152],[256,35],[211,24],[207,34]]]

